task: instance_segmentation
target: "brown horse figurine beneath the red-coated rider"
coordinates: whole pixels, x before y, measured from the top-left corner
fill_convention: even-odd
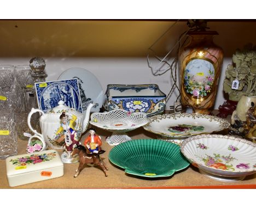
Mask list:
[[[104,152],[105,152],[104,150],[101,150],[98,154],[95,154],[95,153],[88,154],[83,145],[78,145],[76,148],[74,148],[74,150],[71,152],[71,156],[74,156],[77,154],[79,156],[79,166],[78,166],[78,169],[75,171],[74,178],[76,178],[79,175],[79,173],[84,169],[85,164],[89,164],[89,163],[99,165],[102,168],[105,176],[108,176],[107,174],[108,168],[100,158],[100,154]]]

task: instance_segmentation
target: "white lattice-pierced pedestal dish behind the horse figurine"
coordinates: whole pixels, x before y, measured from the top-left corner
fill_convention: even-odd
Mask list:
[[[113,132],[112,136],[107,138],[107,142],[110,145],[117,145],[131,140],[125,132],[148,124],[148,119],[146,113],[131,113],[123,109],[116,109],[104,113],[92,113],[90,124]]]

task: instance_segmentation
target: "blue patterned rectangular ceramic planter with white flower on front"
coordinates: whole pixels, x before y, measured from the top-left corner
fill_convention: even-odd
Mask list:
[[[166,95],[156,84],[108,84],[104,107],[107,111],[124,109],[152,116],[164,112]]]

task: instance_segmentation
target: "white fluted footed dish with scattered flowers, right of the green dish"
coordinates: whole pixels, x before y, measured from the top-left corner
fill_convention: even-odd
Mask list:
[[[185,139],[181,151],[208,178],[232,182],[256,173],[256,143],[234,136],[202,134]]]

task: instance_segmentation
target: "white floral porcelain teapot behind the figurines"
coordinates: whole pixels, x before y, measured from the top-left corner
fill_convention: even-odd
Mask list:
[[[36,134],[37,138],[45,141],[51,149],[63,149],[62,146],[64,142],[58,141],[60,129],[63,129],[60,119],[62,113],[65,113],[67,117],[72,120],[72,128],[78,132],[78,137],[80,138],[81,134],[88,128],[91,108],[97,105],[95,103],[90,103],[86,109],[85,118],[83,118],[82,113],[77,112],[74,108],[65,106],[62,100],[58,104],[57,107],[50,109],[48,113],[44,113],[40,109],[32,108],[27,117],[28,127],[30,127],[31,131]],[[32,114],[36,112],[41,114],[39,122],[42,134],[34,130],[30,123]]]

